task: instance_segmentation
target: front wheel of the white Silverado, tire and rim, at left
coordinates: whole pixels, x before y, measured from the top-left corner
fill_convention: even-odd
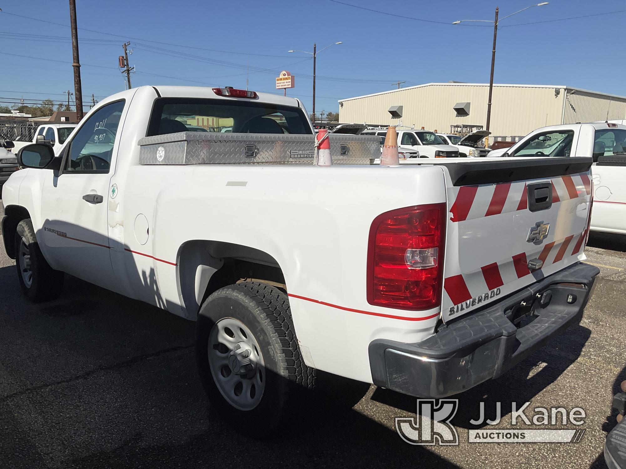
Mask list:
[[[18,223],[15,233],[15,265],[24,296],[34,303],[61,295],[63,272],[54,270],[44,258],[30,219]]]

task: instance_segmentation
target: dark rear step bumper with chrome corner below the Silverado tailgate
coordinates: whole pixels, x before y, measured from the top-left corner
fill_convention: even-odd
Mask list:
[[[441,325],[419,343],[374,340],[369,345],[373,382],[408,395],[443,398],[497,378],[580,322],[598,273],[584,263],[569,266]],[[521,320],[531,321],[518,328],[512,319],[520,305],[528,312]]]

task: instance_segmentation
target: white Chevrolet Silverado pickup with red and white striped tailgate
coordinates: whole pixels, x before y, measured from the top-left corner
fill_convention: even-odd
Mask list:
[[[582,262],[591,158],[374,166],[377,136],[329,139],[334,164],[312,164],[294,98],[110,96],[58,157],[21,149],[4,184],[21,290],[55,298],[68,273],[197,321],[210,400],[255,435],[316,370],[440,398],[580,321],[599,272]]]

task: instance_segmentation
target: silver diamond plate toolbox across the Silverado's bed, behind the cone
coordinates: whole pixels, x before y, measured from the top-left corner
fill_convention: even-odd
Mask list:
[[[371,164],[381,155],[380,137],[329,137],[334,164]],[[179,132],[139,141],[140,164],[312,164],[313,135]]]

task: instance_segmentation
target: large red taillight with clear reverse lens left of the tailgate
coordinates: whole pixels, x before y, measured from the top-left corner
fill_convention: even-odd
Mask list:
[[[441,303],[446,204],[383,213],[369,229],[367,302],[401,310]]]

